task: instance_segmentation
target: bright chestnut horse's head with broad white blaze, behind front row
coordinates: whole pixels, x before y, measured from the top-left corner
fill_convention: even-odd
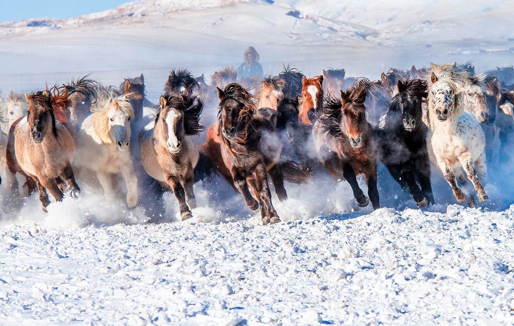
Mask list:
[[[298,118],[304,125],[312,125],[317,111],[323,107],[323,75],[302,79],[302,97]]]

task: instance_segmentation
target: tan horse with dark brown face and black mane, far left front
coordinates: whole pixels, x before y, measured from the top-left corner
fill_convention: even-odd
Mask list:
[[[39,190],[43,210],[50,204],[46,189],[56,201],[62,201],[64,182],[77,197],[80,188],[75,182],[71,160],[75,144],[66,127],[56,121],[52,108],[53,98],[48,90],[27,97],[27,120],[15,126],[14,148],[21,170],[31,177]]]

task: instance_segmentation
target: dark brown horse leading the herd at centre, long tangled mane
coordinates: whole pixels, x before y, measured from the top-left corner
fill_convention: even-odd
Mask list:
[[[269,171],[279,199],[286,200],[282,168],[277,164],[281,144],[275,130],[276,111],[263,108],[261,111],[266,113],[258,114],[252,96],[236,83],[227,85],[224,90],[218,88],[218,97],[218,134],[222,140],[224,166],[246,205],[254,211],[261,206],[263,225],[280,222],[271,203],[267,179]]]

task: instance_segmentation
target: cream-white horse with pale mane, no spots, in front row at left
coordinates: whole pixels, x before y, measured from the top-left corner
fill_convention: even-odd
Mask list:
[[[116,192],[112,175],[121,173],[127,187],[126,203],[135,207],[138,202],[137,177],[128,146],[130,120],[134,110],[126,96],[99,94],[90,114],[76,135],[77,155],[74,164],[97,173],[105,198],[112,201]]]

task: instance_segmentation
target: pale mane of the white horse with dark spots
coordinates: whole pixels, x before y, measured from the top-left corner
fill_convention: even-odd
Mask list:
[[[463,103],[463,99],[462,99],[462,92],[464,90],[464,87],[462,85],[462,80],[463,80],[463,76],[465,76],[465,75],[466,74],[454,72],[454,71],[443,71],[442,73],[439,74],[439,76],[437,76],[437,82],[447,83],[451,88],[451,91],[453,93],[453,99],[455,102],[455,107],[454,107],[452,114],[454,114],[456,116],[461,116],[464,114],[464,103]],[[435,83],[434,83],[434,85],[435,85]],[[432,85],[432,87],[434,87],[434,86]],[[434,131],[434,129],[435,129],[434,121],[437,118],[433,116],[435,113],[433,110],[434,107],[432,104],[432,97],[433,97],[432,93],[428,92],[427,125],[431,131]]]

